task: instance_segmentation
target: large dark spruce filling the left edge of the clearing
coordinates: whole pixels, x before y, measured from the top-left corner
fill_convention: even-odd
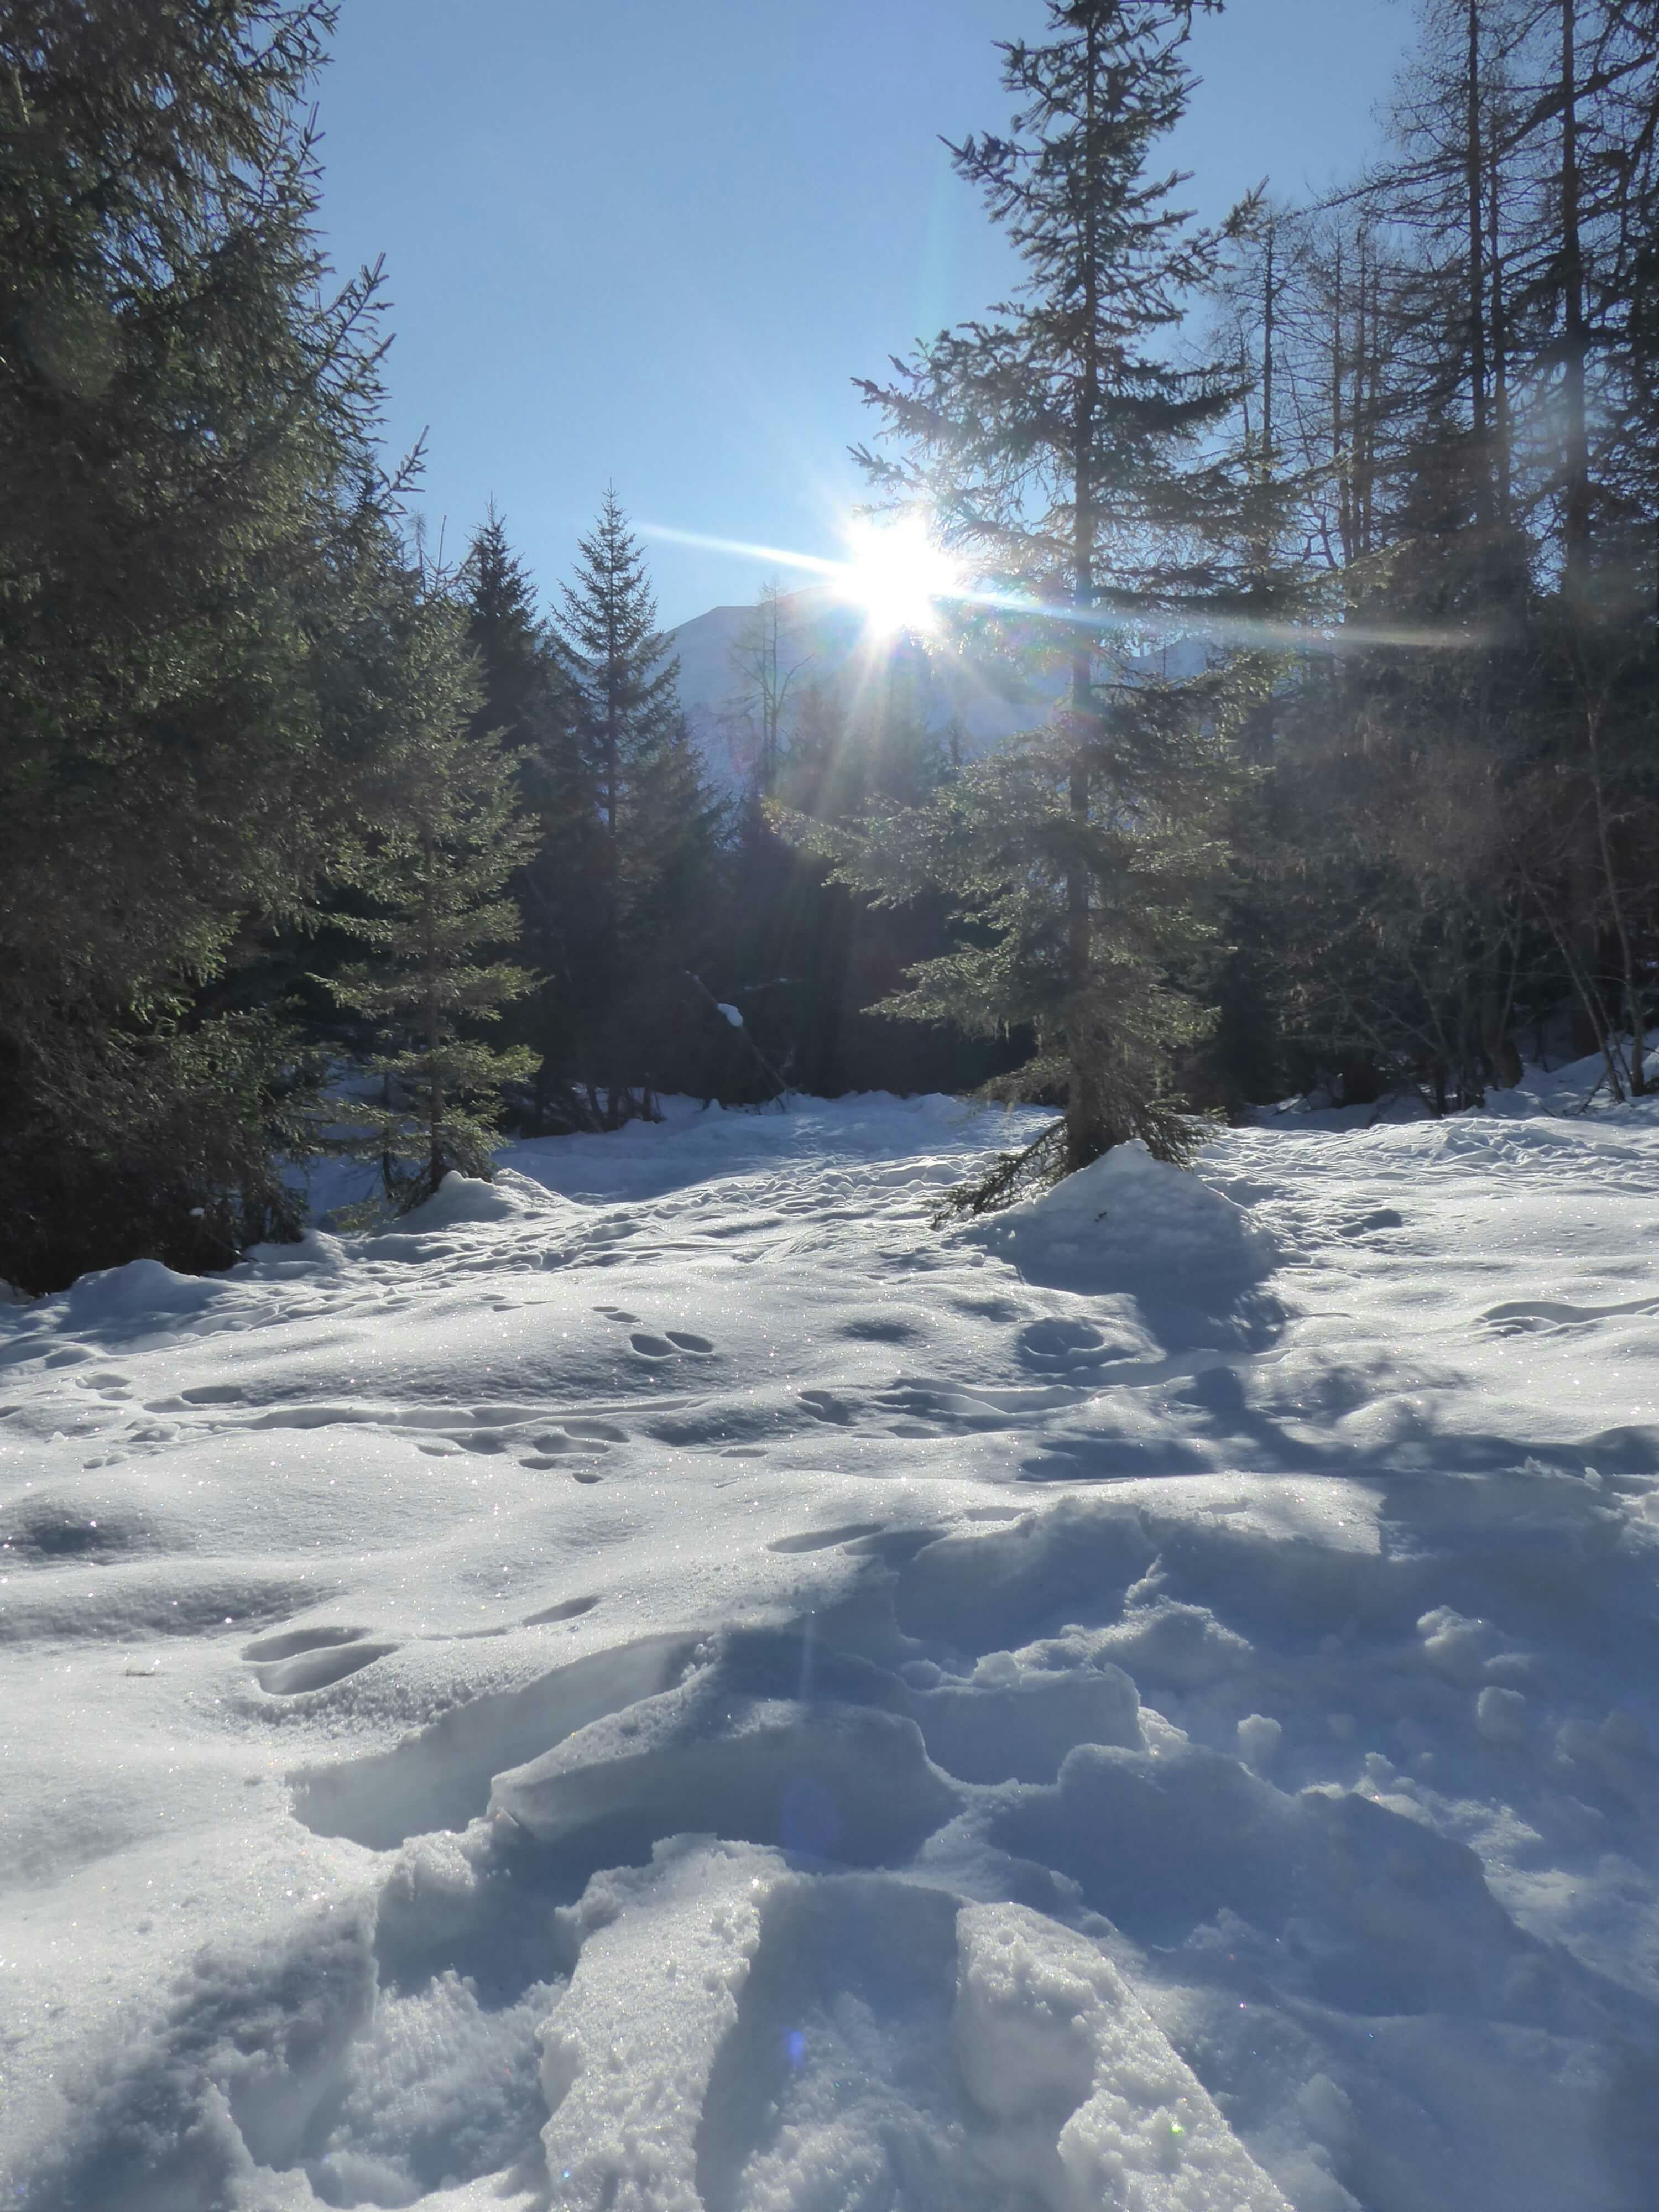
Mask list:
[[[292,1219],[292,1053],[215,1042],[206,993],[376,772],[376,279],[327,281],[303,122],[332,20],[0,11],[0,1274],[35,1290]]]

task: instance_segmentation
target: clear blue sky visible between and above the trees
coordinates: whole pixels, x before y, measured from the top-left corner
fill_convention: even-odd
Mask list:
[[[615,478],[637,524],[834,557],[854,376],[998,296],[940,133],[995,128],[1037,0],[345,0],[319,91],[338,268],[385,254],[387,442],[447,551],[487,500],[544,591]],[[1349,175],[1407,0],[1232,0],[1172,153],[1221,215]],[[661,619],[765,562],[653,542]]]

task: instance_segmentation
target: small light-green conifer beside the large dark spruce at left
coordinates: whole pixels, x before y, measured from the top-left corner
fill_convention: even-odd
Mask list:
[[[518,812],[511,754],[471,728],[478,688],[462,613],[440,593],[411,597],[407,668],[418,719],[405,730],[398,818],[361,872],[376,911],[334,918],[374,958],[327,980],[387,1040],[367,1062],[383,1110],[349,1150],[378,1155],[398,1212],[431,1197],[451,1168],[489,1177],[502,1086],[535,1064],[524,1046],[500,1051],[473,1035],[533,987],[524,969],[480,958],[518,942],[504,889],[533,832]]]

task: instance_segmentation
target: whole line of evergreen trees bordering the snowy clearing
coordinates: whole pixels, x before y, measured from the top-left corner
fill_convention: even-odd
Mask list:
[[[664,1093],[978,1088],[964,1203],[1314,1082],[1648,1088],[1659,0],[1422,0],[1385,155],[1183,212],[1206,0],[1051,0],[953,144],[1009,301],[865,383],[936,653],[739,641],[708,785],[615,495],[551,602],[427,557],[378,270],[316,241],[332,0],[0,15],[0,1276],[230,1263]],[[741,1015],[734,1024],[721,1009]]]

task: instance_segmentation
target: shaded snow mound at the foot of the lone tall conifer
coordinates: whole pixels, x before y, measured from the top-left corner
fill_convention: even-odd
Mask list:
[[[1119,1144],[1040,1199],[967,1232],[1053,1290],[1152,1290],[1188,1303],[1252,1287],[1279,1261],[1248,1208],[1199,1175]]]

